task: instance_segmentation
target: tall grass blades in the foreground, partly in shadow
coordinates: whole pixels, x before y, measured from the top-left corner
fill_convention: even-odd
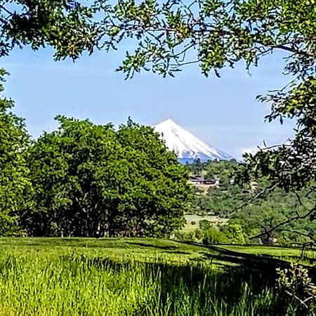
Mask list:
[[[287,315],[289,308],[266,277],[236,268],[0,256],[0,315]]]

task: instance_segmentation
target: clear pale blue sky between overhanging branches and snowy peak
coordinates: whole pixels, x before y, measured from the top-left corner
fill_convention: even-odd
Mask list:
[[[176,78],[143,72],[126,81],[124,74],[114,71],[121,59],[121,52],[98,52],[74,63],[55,62],[49,48],[16,49],[1,59],[1,67],[11,73],[6,96],[15,100],[14,112],[25,117],[34,137],[55,129],[57,114],[97,124],[122,124],[130,116],[153,125],[171,118],[206,143],[240,158],[263,140],[279,144],[293,133],[293,123],[264,123],[269,107],[256,101],[258,94],[289,81],[282,75],[281,55],[266,56],[251,74],[242,64],[225,69],[220,79],[213,74],[205,78],[195,65]]]

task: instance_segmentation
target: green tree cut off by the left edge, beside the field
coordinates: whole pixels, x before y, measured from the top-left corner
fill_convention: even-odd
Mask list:
[[[6,72],[0,70],[0,80]],[[0,93],[4,86],[0,84]],[[19,233],[19,215],[28,203],[31,191],[25,150],[29,136],[25,123],[11,112],[12,100],[0,97],[0,235]]]

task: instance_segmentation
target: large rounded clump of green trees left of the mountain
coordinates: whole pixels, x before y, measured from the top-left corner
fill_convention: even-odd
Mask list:
[[[29,235],[164,235],[183,225],[185,170],[150,127],[58,121],[29,150]]]

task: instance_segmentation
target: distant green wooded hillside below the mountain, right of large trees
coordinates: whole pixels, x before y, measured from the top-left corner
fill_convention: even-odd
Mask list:
[[[214,228],[214,225],[199,228],[204,232],[209,230],[204,234],[206,239],[225,242],[229,239],[226,230],[232,226],[236,228],[236,225],[242,228],[245,242],[274,240],[278,244],[304,244],[315,239],[316,223],[310,218],[290,221],[270,234],[251,239],[312,208],[316,203],[316,192],[312,184],[298,192],[286,192],[281,188],[270,190],[268,178],[256,182],[250,180],[249,183],[239,185],[235,171],[242,165],[237,162],[197,162],[197,166],[204,178],[218,178],[220,184],[210,186],[206,193],[195,187],[189,212],[202,215],[212,213],[226,220],[226,225],[218,228]],[[190,164],[186,168],[190,173],[195,173],[197,166]],[[197,235],[201,235],[201,232],[197,232]]]

